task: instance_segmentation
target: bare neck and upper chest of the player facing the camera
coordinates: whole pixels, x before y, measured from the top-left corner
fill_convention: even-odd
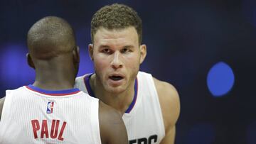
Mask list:
[[[108,92],[104,89],[100,79],[95,77],[95,74],[90,77],[90,86],[95,97],[117,109],[120,113],[125,113],[134,99],[134,82],[131,82],[123,92]]]

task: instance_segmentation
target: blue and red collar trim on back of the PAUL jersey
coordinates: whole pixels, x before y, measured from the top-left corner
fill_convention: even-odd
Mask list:
[[[68,94],[76,94],[80,92],[78,88],[53,91],[53,90],[41,89],[39,87],[33,86],[32,84],[29,84],[27,87],[35,92],[39,92],[41,94],[48,94],[48,95],[68,95]]]

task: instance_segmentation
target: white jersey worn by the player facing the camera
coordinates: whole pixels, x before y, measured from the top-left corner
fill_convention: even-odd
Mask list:
[[[91,75],[77,77],[75,87],[94,96],[89,82]],[[127,128],[129,144],[160,143],[165,135],[164,120],[151,74],[145,72],[137,74],[134,92],[132,104],[122,116]]]

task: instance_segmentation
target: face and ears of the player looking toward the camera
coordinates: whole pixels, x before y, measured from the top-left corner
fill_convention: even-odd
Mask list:
[[[139,65],[146,57],[146,45],[139,45],[134,27],[118,30],[99,28],[89,45],[96,79],[107,92],[120,93],[134,87]]]

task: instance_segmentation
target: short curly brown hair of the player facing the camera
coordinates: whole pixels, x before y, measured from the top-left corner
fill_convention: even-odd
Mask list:
[[[98,10],[92,17],[91,38],[94,41],[94,35],[99,28],[109,30],[124,29],[133,26],[139,36],[139,43],[142,43],[142,20],[134,9],[124,4],[112,4],[104,6]]]

